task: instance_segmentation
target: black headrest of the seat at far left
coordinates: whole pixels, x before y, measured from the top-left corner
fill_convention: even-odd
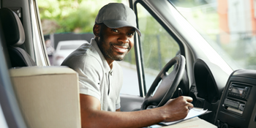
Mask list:
[[[20,18],[8,8],[0,9],[0,20],[7,45],[18,46],[25,41],[25,33]]]

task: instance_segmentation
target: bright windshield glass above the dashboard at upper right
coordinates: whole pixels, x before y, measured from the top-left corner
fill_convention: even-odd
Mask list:
[[[170,0],[232,69],[256,69],[255,0]]]

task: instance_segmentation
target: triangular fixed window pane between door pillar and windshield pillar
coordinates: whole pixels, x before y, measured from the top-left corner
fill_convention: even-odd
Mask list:
[[[179,52],[179,46],[173,37],[139,3],[137,4],[137,10],[138,25],[142,33],[140,45],[146,89],[148,91],[161,69]]]

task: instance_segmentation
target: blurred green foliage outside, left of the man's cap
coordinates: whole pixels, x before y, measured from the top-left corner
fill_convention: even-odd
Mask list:
[[[101,7],[109,2],[122,0],[38,0],[38,7],[44,34],[92,32],[94,20]],[[45,20],[48,23],[45,23]],[[50,23],[49,23],[50,21]],[[56,24],[56,26],[52,26]],[[47,29],[54,31],[47,31]]]

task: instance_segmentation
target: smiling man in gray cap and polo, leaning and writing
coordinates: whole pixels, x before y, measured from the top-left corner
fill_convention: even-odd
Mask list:
[[[70,54],[62,65],[75,69],[80,82],[82,127],[146,127],[187,116],[191,97],[178,97],[166,105],[135,112],[120,111],[121,61],[134,45],[135,13],[124,4],[110,3],[99,10],[94,39]],[[116,112],[115,112],[116,111]]]

